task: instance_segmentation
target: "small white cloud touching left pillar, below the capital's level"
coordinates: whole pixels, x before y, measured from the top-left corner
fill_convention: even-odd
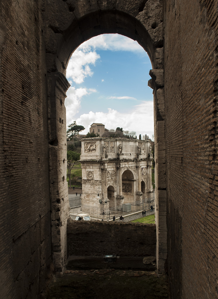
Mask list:
[[[74,121],[74,115],[79,112],[81,108],[81,98],[87,94],[97,92],[96,89],[75,88],[70,86],[66,92],[65,107],[67,125]]]

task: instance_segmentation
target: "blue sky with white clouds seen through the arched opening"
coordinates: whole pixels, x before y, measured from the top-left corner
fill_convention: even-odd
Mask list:
[[[93,122],[104,123],[107,129],[136,131],[137,138],[152,137],[151,68],[143,48],[125,36],[104,34],[84,42],[67,67],[67,125],[76,120],[86,134]]]

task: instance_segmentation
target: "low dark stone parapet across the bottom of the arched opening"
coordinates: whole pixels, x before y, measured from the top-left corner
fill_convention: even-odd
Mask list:
[[[156,225],[69,220],[67,242],[69,255],[155,256]]]

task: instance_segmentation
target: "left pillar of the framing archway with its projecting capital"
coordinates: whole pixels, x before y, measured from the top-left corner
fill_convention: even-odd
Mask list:
[[[66,181],[66,108],[64,100],[70,84],[60,72],[48,77],[48,139],[51,200],[52,259],[55,271],[62,273],[67,259],[67,218],[69,216]]]

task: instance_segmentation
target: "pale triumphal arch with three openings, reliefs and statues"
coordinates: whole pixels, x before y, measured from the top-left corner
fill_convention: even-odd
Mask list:
[[[151,140],[84,138],[80,160],[82,206],[98,208],[98,190],[110,208],[151,201]]]

